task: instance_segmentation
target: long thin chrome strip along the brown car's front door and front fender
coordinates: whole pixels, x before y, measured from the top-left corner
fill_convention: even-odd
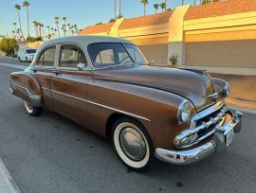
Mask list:
[[[54,91],[54,90],[51,90],[53,93],[57,93],[59,95],[63,95],[63,96],[67,96],[67,97],[71,97],[71,98],[74,98],[74,99],[77,99],[77,100],[81,100],[83,102],[87,102],[87,103],[90,103],[90,104],[93,104],[93,105],[96,105],[96,106],[99,106],[101,108],[104,108],[104,109],[108,109],[108,110],[111,110],[111,111],[114,111],[114,112],[119,112],[120,114],[126,114],[126,115],[129,115],[129,116],[133,116],[133,117],[136,117],[136,118],[139,118],[139,119],[142,119],[142,120],[146,120],[146,121],[151,121],[150,119],[144,117],[144,116],[140,116],[140,115],[137,115],[137,114],[131,114],[129,112],[125,112],[125,111],[122,111],[122,110],[119,110],[119,109],[116,109],[116,108],[113,108],[113,107],[109,107],[109,106],[106,106],[106,105],[103,105],[103,104],[100,104],[100,103],[97,103],[97,102],[93,102],[91,100],[86,100],[86,99],[83,99],[81,97],[77,97],[77,96],[70,96],[70,95],[67,95],[67,94],[64,94],[64,93],[61,93],[61,92],[58,92],[58,91]]]

